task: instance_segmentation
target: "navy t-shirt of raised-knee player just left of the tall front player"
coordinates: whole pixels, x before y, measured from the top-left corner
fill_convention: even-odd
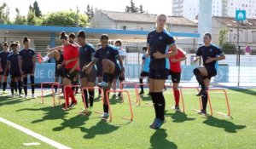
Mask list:
[[[103,59],[108,59],[113,61],[115,65],[118,65],[117,57],[119,56],[119,50],[113,45],[109,45],[106,49],[97,49],[96,54],[94,55],[96,60],[99,60],[102,63]]]

